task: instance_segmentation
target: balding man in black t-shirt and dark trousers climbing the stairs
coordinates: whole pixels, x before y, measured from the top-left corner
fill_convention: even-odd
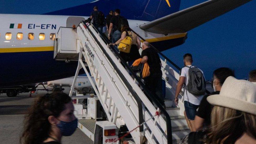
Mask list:
[[[145,86],[153,95],[157,96],[160,104],[165,107],[164,97],[162,92],[162,71],[161,60],[157,52],[150,47],[147,41],[142,43],[141,63],[148,63],[150,76],[144,78]]]

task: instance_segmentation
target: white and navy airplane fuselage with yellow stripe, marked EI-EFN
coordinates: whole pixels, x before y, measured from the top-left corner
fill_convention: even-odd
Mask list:
[[[76,20],[74,20],[74,18]],[[77,62],[55,61],[54,37],[88,17],[0,14],[0,87],[51,81],[74,76]],[[183,43],[186,34],[148,33],[138,26],[147,21],[128,20],[131,29],[155,45]],[[160,47],[161,48],[161,47]],[[163,47],[162,47],[163,48]]]

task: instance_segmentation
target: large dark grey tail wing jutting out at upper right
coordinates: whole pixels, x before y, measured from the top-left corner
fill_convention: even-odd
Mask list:
[[[142,30],[157,33],[185,33],[251,0],[209,0],[193,7],[140,25]]]

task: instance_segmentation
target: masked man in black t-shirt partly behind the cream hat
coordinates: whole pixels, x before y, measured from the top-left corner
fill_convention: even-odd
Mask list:
[[[227,77],[233,76],[234,77],[234,72],[226,67],[221,67],[216,69],[213,72],[213,80],[212,80],[212,85],[214,92],[209,94],[219,94],[221,90],[221,86],[226,80]],[[213,108],[213,105],[211,105],[206,98],[209,95],[205,95],[204,98],[202,99],[198,111],[195,116],[195,120],[193,122],[193,131],[198,131],[202,130],[205,127],[208,127],[211,124],[211,111]]]

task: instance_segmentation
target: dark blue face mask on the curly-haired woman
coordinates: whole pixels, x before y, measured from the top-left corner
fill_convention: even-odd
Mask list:
[[[71,136],[77,127],[77,119],[71,122],[60,121],[57,127],[60,129],[62,136]]]

